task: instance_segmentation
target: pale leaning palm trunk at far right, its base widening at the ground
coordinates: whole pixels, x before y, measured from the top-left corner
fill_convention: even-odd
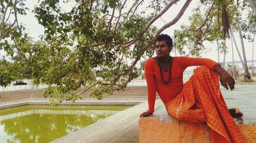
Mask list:
[[[244,40],[243,40],[242,30],[241,30],[241,26],[240,26],[238,17],[237,17],[237,26],[238,26],[238,32],[239,32],[239,37],[240,37],[241,46],[242,46],[242,53],[243,53],[243,60],[244,60],[244,67],[245,67],[244,77],[247,79],[251,79],[251,76],[250,76],[250,73],[248,70],[248,66],[247,66],[247,60],[246,60],[245,48],[244,48]]]

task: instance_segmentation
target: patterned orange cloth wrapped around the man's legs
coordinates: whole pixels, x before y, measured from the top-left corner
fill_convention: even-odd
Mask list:
[[[211,142],[245,142],[230,116],[219,89],[219,75],[201,66],[183,85],[182,91],[165,104],[168,114],[188,123],[207,123]]]

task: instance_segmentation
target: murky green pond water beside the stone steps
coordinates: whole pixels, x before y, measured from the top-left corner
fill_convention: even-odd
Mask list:
[[[0,109],[0,142],[50,142],[131,106],[41,106]]]

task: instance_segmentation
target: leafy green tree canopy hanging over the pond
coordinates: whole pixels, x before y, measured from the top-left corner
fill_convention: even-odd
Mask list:
[[[34,42],[18,22],[25,15],[23,1],[1,1],[0,83],[32,78],[34,84],[47,84],[44,95],[56,101],[75,101],[83,92],[95,87],[92,96],[122,90],[140,75],[140,58],[154,53],[154,39],[173,25],[188,7],[187,1],[178,16],[157,30],[153,23],[176,1],[65,0],[39,1],[34,10],[45,32]],[[152,11],[146,13],[147,10]],[[14,21],[11,21],[12,17]],[[102,80],[95,80],[100,72]]]

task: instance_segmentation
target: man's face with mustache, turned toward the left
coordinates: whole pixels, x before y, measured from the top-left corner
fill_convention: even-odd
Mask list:
[[[156,54],[158,58],[169,56],[170,51],[172,51],[172,47],[168,47],[166,41],[156,42]]]

